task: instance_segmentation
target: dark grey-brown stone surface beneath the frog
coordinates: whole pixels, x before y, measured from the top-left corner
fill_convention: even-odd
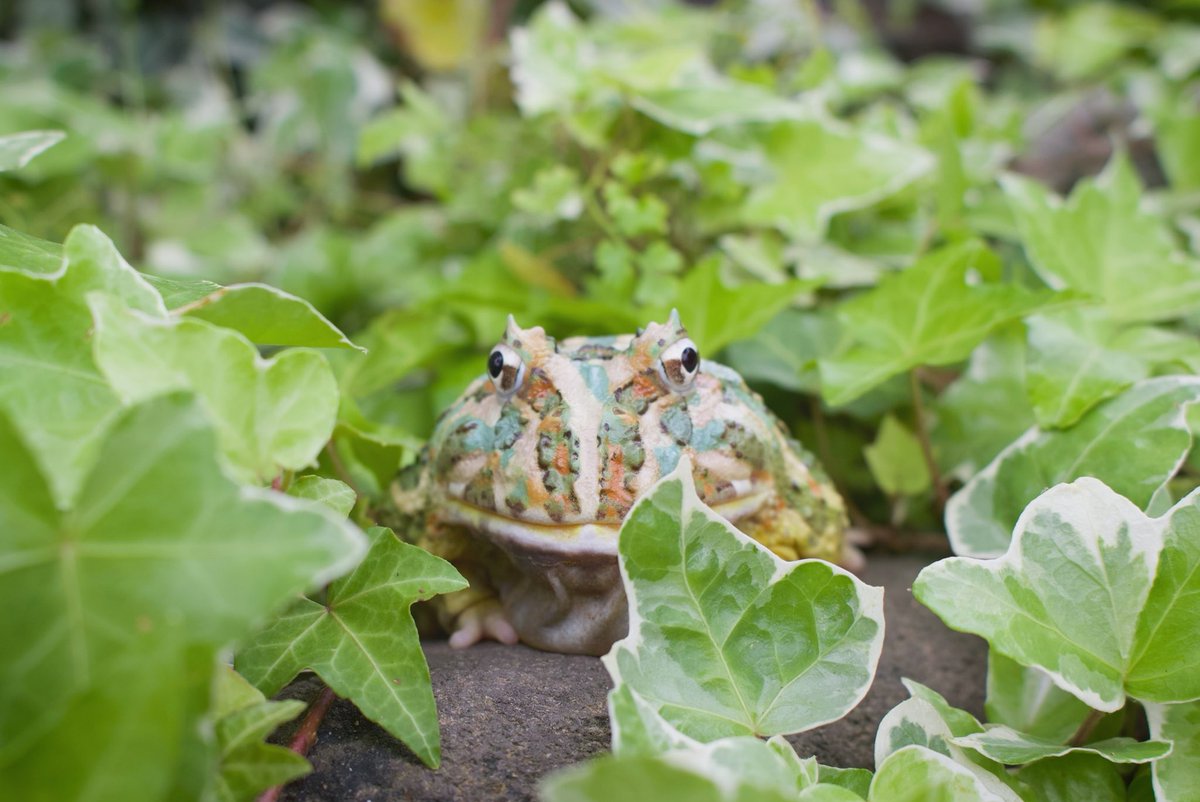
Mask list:
[[[793,736],[802,755],[871,767],[880,719],[907,696],[901,677],[982,714],[984,642],[947,629],[908,589],[928,562],[920,556],[870,558],[863,579],[887,588],[887,635],[875,684],[846,718]],[[599,658],[496,644],[457,652],[427,642],[425,653],[442,722],[442,768],[425,768],[350,702],[338,700],[308,755],[314,772],[288,786],[283,800],[533,800],[544,774],[608,749],[610,681]],[[307,701],[319,688],[316,678],[305,677],[282,695]],[[281,740],[288,736],[280,734]]]

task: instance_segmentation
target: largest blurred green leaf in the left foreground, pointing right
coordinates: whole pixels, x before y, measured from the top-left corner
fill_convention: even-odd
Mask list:
[[[346,570],[361,537],[234,484],[188,396],[125,413],[66,511],[2,417],[0,453],[0,796],[166,798],[209,750],[217,651]]]

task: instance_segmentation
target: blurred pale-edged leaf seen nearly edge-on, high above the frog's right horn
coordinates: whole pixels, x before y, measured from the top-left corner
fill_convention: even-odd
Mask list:
[[[716,128],[745,122],[778,122],[806,115],[796,101],[754,84],[674,86],[634,95],[634,108],[662,125],[703,137]]]

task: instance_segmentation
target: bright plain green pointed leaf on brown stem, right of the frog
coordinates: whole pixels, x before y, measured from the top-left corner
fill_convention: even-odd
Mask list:
[[[966,359],[994,329],[1052,300],[1012,283],[970,283],[968,274],[994,270],[994,258],[979,243],[947,246],[842,304],[853,340],[821,360],[826,400],[847,403],[918,365]]]

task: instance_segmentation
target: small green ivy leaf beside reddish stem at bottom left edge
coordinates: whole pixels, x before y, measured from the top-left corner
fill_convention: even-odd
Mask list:
[[[214,710],[221,761],[216,782],[220,802],[252,802],[260,791],[312,771],[295,752],[263,743],[277,726],[302,711],[301,701],[268,701],[236,671],[221,666]]]

